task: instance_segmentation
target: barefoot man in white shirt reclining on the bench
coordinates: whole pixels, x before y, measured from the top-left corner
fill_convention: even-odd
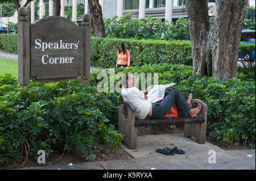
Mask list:
[[[191,100],[192,94],[189,94],[188,100],[175,89],[171,92],[166,92],[160,103],[152,103],[147,98],[147,92],[153,86],[149,86],[147,90],[140,91],[137,89],[137,81],[133,74],[126,74],[123,79],[121,95],[123,100],[130,102],[135,107],[135,116],[137,119],[162,119],[164,115],[176,104],[177,108],[184,114],[189,113],[191,117],[195,117],[201,111],[201,104],[192,109]]]

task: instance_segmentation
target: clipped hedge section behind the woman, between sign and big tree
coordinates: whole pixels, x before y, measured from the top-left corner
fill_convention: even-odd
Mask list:
[[[191,59],[190,41],[92,37],[91,64],[104,68],[114,68],[117,64],[117,47],[121,41],[130,51],[133,66],[162,63],[188,64]]]

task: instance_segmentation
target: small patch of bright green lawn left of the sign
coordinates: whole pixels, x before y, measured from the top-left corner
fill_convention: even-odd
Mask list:
[[[0,74],[5,73],[18,77],[18,60],[0,57]]]

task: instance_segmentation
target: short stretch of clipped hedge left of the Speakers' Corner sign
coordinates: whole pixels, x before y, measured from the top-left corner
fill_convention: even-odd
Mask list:
[[[0,35],[0,48],[10,53],[18,53],[18,35]]]

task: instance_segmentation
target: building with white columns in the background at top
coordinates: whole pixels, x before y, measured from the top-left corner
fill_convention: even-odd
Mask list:
[[[44,3],[49,3],[49,16],[53,15],[52,0],[37,1],[40,1],[40,19],[44,16]],[[131,17],[134,19],[152,16],[152,19],[168,20],[169,22],[178,18],[187,18],[185,0],[99,0],[99,2],[103,18],[113,18],[115,15],[121,17],[128,13],[131,13]],[[85,13],[89,12],[88,0],[61,0],[60,16],[65,17],[65,6],[72,6],[72,21],[80,22],[81,16],[77,17],[77,5],[79,4],[84,5]],[[216,13],[215,0],[208,0],[208,7],[209,16],[214,16]],[[31,23],[34,23],[32,18],[34,12],[32,11],[34,11],[33,8],[31,8]]]

